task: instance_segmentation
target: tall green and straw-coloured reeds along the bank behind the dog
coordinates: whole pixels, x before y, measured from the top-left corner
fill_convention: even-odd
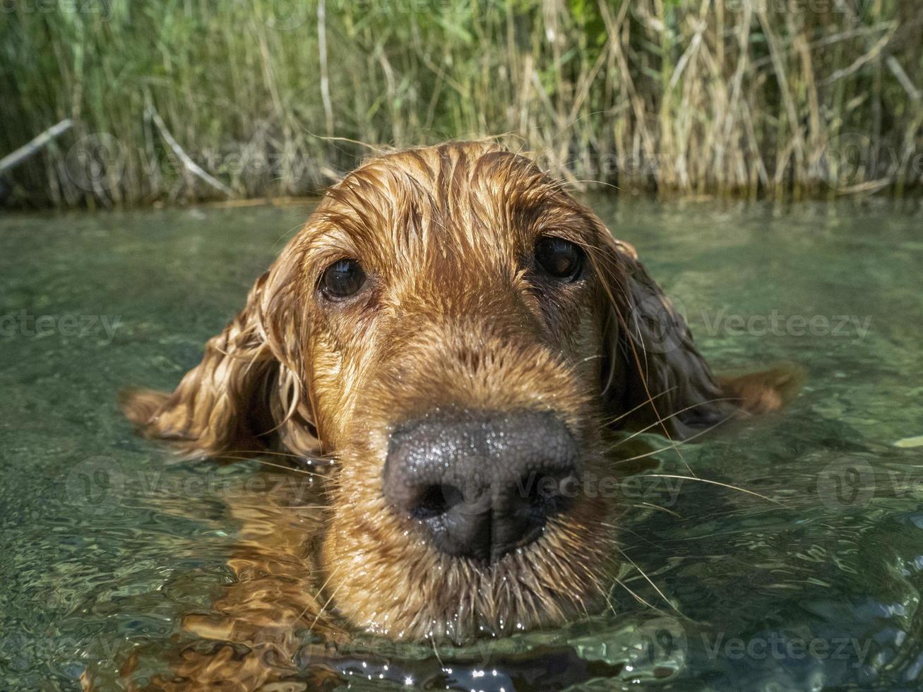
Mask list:
[[[571,185],[905,194],[911,0],[4,0],[0,153],[57,206],[303,195],[367,149],[500,135]],[[170,138],[174,140],[171,145]],[[180,149],[177,151],[176,149]]]

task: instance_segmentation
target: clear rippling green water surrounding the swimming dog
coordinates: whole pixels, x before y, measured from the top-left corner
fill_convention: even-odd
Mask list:
[[[306,689],[399,689],[408,677],[458,689],[916,688],[923,447],[895,443],[923,435],[918,212],[594,207],[638,246],[718,369],[808,368],[785,412],[683,451],[701,478],[781,504],[642,479],[625,486],[640,507],[620,522],[622,549],[659,592],[626,563],[614,613],[435,653],[308,637],[287,674]],[[172,388],[198,363],[308,211],[0,218],[3,688],[76,689],[84,671],[102,689],[169,676],[186,644],[198,651],[187,656],[214,653],[184,614],[246,639],[222,634],[218,612],[241,597],[235,550],[294,568],[283,538],[318,518],[288,502],[291,474],[176,464],[132,434],[115,397]],[[672,453],[660,469],[687,473]],[[297,607],[310,585],[286,583]]]

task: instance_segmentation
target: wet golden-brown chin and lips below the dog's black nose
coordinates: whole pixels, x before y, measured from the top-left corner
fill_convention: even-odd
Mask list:
[[[605,603],[613,537],[580,517],[552,519],[535,542],[489,564],[438,553],[412,527],[396,541],[380,540],[380,526],[347,527],[334,518],[324,543],[326,591],[351,626],[375,636],[463,644],[559,626]]]

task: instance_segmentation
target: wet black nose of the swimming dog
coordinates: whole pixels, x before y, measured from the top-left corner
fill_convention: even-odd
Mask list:
[[[572,504],[577,446],[550,412],[420,418],[391,434],[383,485],[438,550],[494,561]]]

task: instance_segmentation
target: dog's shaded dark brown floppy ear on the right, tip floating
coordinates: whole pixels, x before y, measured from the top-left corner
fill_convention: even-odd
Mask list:
[[[686,321],[638,260],[602,225],[593,265],[603,282],[604,394],[618,423],[685,438],[737,413],[781,408],[800,385],[793,366],[715,377]]]

